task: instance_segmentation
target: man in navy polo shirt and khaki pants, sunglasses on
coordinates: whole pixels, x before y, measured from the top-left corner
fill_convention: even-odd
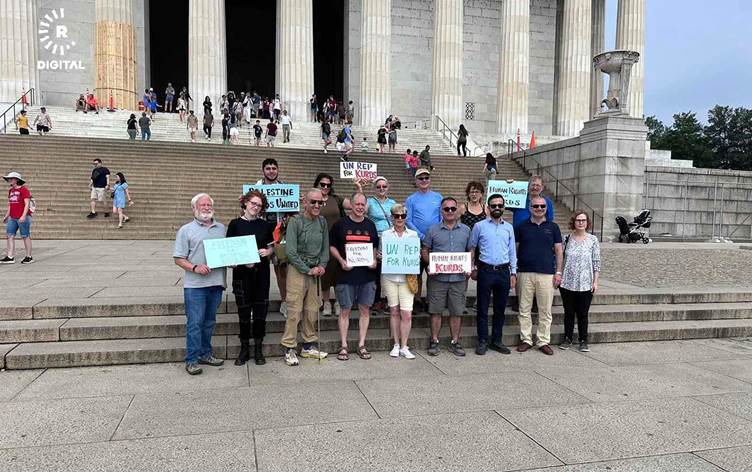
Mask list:
[[[554,288],[561,283],[563,251],[559,226],[546,220],[546,200],[535,197],[530,200],[529,220],[514,227],[517,240],[518,272],[520,297],[520,340],[517,351],[525,352],[533,346],[533,323],[530,309],[533,298],[538,300],[538,347],[546,355],[554,351],[551,342],[551,304]],[[554,255],[556,263],[554,267]]]

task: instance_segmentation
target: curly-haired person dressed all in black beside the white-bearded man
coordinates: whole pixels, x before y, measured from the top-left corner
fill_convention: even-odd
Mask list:
[[[256,246],[261,257],[258,264],[241,265],[232,269],[232,293],[238,305],[240,323],[240,353],[235,359],[235,365],[243,365],[251,358],[251,333],[256,365],[266,363],[262,346],[266,334],[266,313],[269,309],[269,256],[274,252],[274,224],[263,218],[267,207],[266,196],[258,190],[251,190],[240,197],[243,214],[232,220],[227,227],[228,238],[256,236]]]

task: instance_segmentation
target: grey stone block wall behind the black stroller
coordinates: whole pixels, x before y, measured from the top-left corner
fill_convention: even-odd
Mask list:
[[[644,205],[652,235],[752,238],[752,172],[648,165]]]

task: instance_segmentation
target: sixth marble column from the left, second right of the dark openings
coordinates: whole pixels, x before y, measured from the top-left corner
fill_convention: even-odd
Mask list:
[[[452,129],[464,116],[462,103],[463,0],[436,0],[433,11],[431,113]]]

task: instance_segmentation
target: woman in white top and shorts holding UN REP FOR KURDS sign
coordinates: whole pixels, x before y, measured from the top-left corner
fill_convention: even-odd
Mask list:
[[[395,204],[391,208],[391,216],[394,221],[394,227],[384,230],[381,237],[381,259],[382,259],[382,271],[387,270],[390,273],[382,273],[381,275],[381,288],[386,294],[387,302],[389,303],[389,326],[392,329],[392,336],[394,337],[394,347],[389,353],[392,357],[404,357],[405,359],[415,359],[415,354],[410,352],[410,348],[407,345],[407,338],[410,336],[410,329],[413,324],[413,292],[407,283],[407,276],[405,274],[391,273],[391,268],[387,269],[387,265],[391,262],[390,256],[395,257],[399,264],[413,257],[415,260],[415,267],[420,270],[420,238],[418,233],[408,229],[405,225],[407,221],[407,210],[402,204]],[[401,253],[399,250],[393,251],[391,248],[397,248],[398,245],[391,243],[390,241],[405,241],[412,240],[415,242],[413,254],[409,254],[409,250],[403,250]],[[403,244],[404,246],[404,244]],[[396,262],[395,261],[395,262]]]

